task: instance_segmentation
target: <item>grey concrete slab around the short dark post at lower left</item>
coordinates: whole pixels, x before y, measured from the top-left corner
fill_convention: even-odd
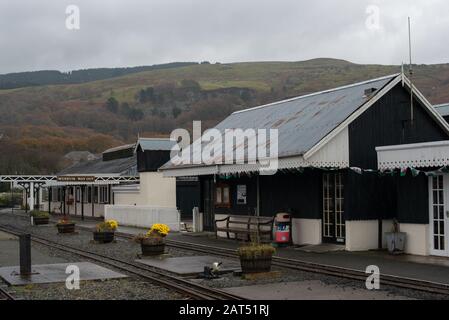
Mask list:
[[[33,265],[33,274],[30,277],[21,277],[20,268],[3,267],[0,268],[0,277],[9,285],[22,286],[37,283],[65,282],[71,272],[66,273],[70,265],[78,266],[80,270],[80,280],[107,280],[126,278],[127,276],[90,262],[72,262],[58,264]]]

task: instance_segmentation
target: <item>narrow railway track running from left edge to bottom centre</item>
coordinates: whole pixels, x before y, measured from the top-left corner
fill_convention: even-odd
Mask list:
[[[23,233],[23,230],[13,228],[11,226],[0,226],[0,230],[16,235]],[[134,262],[129,262],[126,260],[98,254],[91,251],[82,250],[73,246],[63,245],[49,239],[31,235],[31,240],[35,243],[57,249],[63,252],[78,255],[80,257],[102,263],[104,265],[113,267],[125,271],[129,274],[133,274],[146,281],[157,283],[169,289],[176,290],[179,293],[185,294],[193,299],[201,300],[243,300],[242,297],[218,290],[215,288],[210,288],[203,286],[189,280],[175,277],[163,272],[153,270],[145,265],[141,265]]]

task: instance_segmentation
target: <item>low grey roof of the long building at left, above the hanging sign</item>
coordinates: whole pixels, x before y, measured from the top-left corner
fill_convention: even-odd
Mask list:
[[[122,158],[110,161],[102,159],[84,161],[68,167],[58,173],[61,175],[68,174],[121,174],[129,171],[132,167],[137,166],[137,157],[134,155],[129,158]]]

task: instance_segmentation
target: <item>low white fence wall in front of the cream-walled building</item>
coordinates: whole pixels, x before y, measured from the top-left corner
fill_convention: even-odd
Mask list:
[[[153,206],[106,205],[105,219],[116,220],[122,226],[150,228],[164,223],[172,231],[179,231],[180,215],[176,208]]]

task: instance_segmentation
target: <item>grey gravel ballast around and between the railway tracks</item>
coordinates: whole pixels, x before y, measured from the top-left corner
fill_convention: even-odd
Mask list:
[[[128,261],[134,261],[137,258],[137,255],[140,253],[140,245],[127,239],[119,238],[117,237],[116,242],[110,243],[110,244],[97,244],[92,241],[92,232],[85,231],[85,230],[77,230],[78,234],[74,235],[58,235],[56,227],[53,226],[42,226],[42,227],[34,227],[29,225],[29,220],[26,217],[19,216],[19,215],[11,215],[11,214],[2,214],[0,213],[0,224],[3,225],[10,225],[14,226],[16,228],[27,230],[30,233],[40,235],[42,237],[48,238],[53,241],[58,241],[61,244],[67,244],[70,246],[74,246],[80,249],[93,251],[96,253],[100,253],[103,255],[112,256],[115,258],[128,260]],[[35,244],[33,244],[35,245]],[[39,250],[48,250],[48,254],[56,254],[61,255],[59,250],[53,250],[49,248],[44,248],[44,246],[41,246]],[[58,251],[58,252],[55,252]],[[175,249],[167,246],[168,253],[173,257],[179,257],[179,256],[198,256],[198,255],[204,255],[203,253],[198,253],[192,250],[184,250],[184,249]],[[73,256],[71,257],[73,260]],[[79,259],[78,259],[79,260]],[[217,261],[220,261],[220,258],[217,257]],[[265,279],[257,279],[257,280],[245,280],[240,276],[235,276],[232,273],[222,275],[220,279],[215,280],[207,280],[207,279],[192,279],[192,281],[195,281],[197,283],[214,287],[214,288],[229,288],[229,287],[240,287],[240,286],[249,286],[249,285],[259,285],[259,284],[269,284],[269,283],[277,283],[277,282],[294,282],[294,281],[320,281],[325,285],[329,285],[332,287],[338,286],[343,288],[344,290],[355,290],[355,289],[363,289],[366,290],[365,284],[363,282],[357,282],[349,279],[339,278],[339,277],[332,277],[332,276],[326,276],[322,274],[315,274],[311,272],[303,272],[303,271],[296,271],[291,269],[285,269],[285,268],[278,268],[273,267],[273,271],[278,271],[280,275],[278,276],[267,276]],[[164,294],[164,290],[160,290],[157,292],[157,294],[139,294],[142,291],[145,291],[144,288],[149,285],[148,283],[141,283],[141,285],[136,285],[134,283],[135,280],[133,279],[122,279],[122,280],[110,280],[112,281],[110,284],[104,285],[105,291],[111,291],[111,292],[99,292],[97,296],[86,294],[81,299],[114,299],[114,296],[116,296],[117,299],[135,299],[142,298],[142,299],[172,299],[173,292],[166,292]],[[110,282],[107,281],[107,282]],[[101,283],[101,282],[100,282]],[[123,283],[123,292],[120,293],[120,288]],[[93,291],[102,291],[103,289],[98,288],[98,283],[88,283],[86,284],[87,291],[92,292]],[[101,285],[100,285],[101,286]],[[151,286],[151,285],[150,285]],[[46,293],[42,293],[42,295],[47,295],[47,292],[53,292],[55,294],[55,298],[62,299],[78,299],[77,293],[65,293],[65,295],[59,294],[59,290],[66,290],[65,286],[59,285],[48,285],[42,287],[45,290]],[[129,293],[128,289],[132,291],[132,288],[135,287],[136,294]],[[157,288],[160,288],[159,286],[156,286]],[[114,289],[118,288],[118,289]],[[34,290],[31,290],[32,292],[21,292],[25,297],[30,299],[39,299],[39,293],[34,293]],[[40,291],[40,290],[36,290]],[[117,292],[118,291],[118,292]],[[151,291],[151,290],[149,290]],[[157,290],[156,290],[157,291]],[[167,291],[167,290],[166,290]],[[431,294],[416,290],[410,290],[410,289],[402,289],[397,287],[391,287],[391,286],[382,286],[381,285],[381,291],[386,296],[391,297],[406,297],[411,299],[449,299],[448,296],[439,295],[439,294]],[[35,296],[36,294],[37,296]],[[50,294],[50,296],[52,296]],[[151,298],[153,297],[153,298]],[[183,298],[182,296],[178,295],[178,299]],[[307,297],[304,297],[307,299]],[[49,298],[53,299],[53,298]]]

